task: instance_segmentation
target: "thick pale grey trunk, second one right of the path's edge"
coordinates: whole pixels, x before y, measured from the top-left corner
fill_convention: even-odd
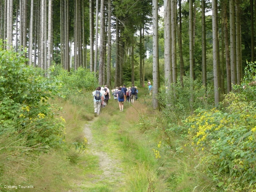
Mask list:
[[[164,1],[164,84],[170,90],[172,84],[172,41],[171,41],[171,4]]]

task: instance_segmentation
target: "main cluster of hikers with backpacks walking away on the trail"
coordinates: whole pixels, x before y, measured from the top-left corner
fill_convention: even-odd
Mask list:
[[[126,88],[126,85],[116,87],[111,90],[114,100],[118,101],[120,112],[124,111],[124,102],[134,103],[138,99],[138,89],[134,84],[132,87]],[[94,92],[92,92],[94,97],[94,113],[95,115],[100,114],[100,108],[105,107],[110,100],[110,90],[107,85],[104,87],[97,87]]]

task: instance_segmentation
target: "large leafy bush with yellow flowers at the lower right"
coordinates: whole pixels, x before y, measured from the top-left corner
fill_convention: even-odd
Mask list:
[[[228,94],[225,111],[197,110],[186,120],[189,135],[200,150],[206,150],[214,179],[222,188],[255,191],[256,102],[247,102],[241,94]]]

